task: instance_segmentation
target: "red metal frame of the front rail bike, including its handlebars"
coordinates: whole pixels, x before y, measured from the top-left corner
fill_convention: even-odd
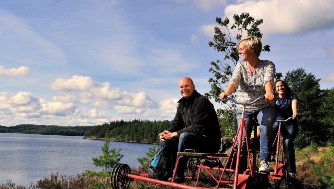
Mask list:
[[[228,96],[228,97],[231,97],[231,96]],[[233,98],[231,98],[231,99],[234,100]],[[127,174],[125,174],[126,178],[146,181],[146,182],[150,182],[150,183],[154,183],[154,184],[159,184],[159,185],[164,185],[164,186],[174,187],[174,188],[179,188],[179,189],[208,189],[208,188],[197,187],[198,183],[201,180],[203,180],[203,179],[200,179],[199,176],[200,176],[201,171],[204,170],[206,173],[208,173],[210,175],[211,179],[209,179],[209,180],[211,182],[217,183],[217,186],[215,187],[215,189],[219,188],[220,184],[229,184],[229,185],[233,184],[233,189],[245,189],[246,185],[247,185],[247,182],[250,179],[252,179],[254,182],[257,182],[256,178],[255,178],[255,169],[256,169],[256,163],[257,163],[257,161],[256,161],[256,156],[257,156],[256,140],[257,139],[256,139],[256,137],[254,137],[254,149],[253,149],[253,152],[252,152],[253,156],[252,156],[252,162],[251,162],[251,155],[250,155],[250,152],[249,152],[249,140],[248,140],[247,132],[246,132],[246,123],[245,123],[245,118],[244,118],[244,112],[245,112],[245,108],[246,108],[247,104],[254,103],[255,101],[257,101],[259,99],[261,99],[261,98],[258,98],[256,100],[254,100],[253,102],[242,102],[243,113],[242,113],[240,126],[237,130],[237,133],[236,133],[236,138],[238,138],[239,140],[234,140],[233,145],[232,145],[232,146],[234,146],[235,143],[238,142],[238,145],[237,145],[238,148],[237,148],[237,152],[236,152],[237,155],[236,155],[235,169],[231,169],[232,163],[230,165],[230,168],[227,168],[227,165],[228,165],[227,162],[230,162],[230,161],[233,162],[233,160],[234,160],[234,156],[232,156],[234,151],[232,150],[227,157],[227,161],[226,161],[226,164],[225,164],[223,169],[219,168],[219,167],[215,167],[215,168],[206,167],[202,163],[200,163],[200,161],[199,161],[199,159],[203,158],[203,157],[196,157],[195,159],[197,160],[197,162],[196,162],[196,166],[194,167],[194,172],[192,174],[192,177],[186,177],[186,180],[183,183],[174,183],[175,174],[173,174],[171,182],[160,181],[160,180],[156,180],[156,179],[150,179],[148,177],[148,174],[127,173]],[[234,100],[234,102],[236,102],[236,101]],[[241,102],[238,102],[238,103],[241,103]],[[254,126],[254,128],[255,128],[254,134],[256,136],[256,132],[257,132],[256,126]],[[242,132],[242,131],[244,131],[244,132]],[[247,169],[243,174],[238,174],[239,173],[239,167],[240,167],[240,155],[241,155],[241,145],[242,145],[243,133],[245,133],[245,137],[246,137],[246,150],[247,150],[247,158],[248,158],[248,162],[249,162],[249,169]],[[179,160],[181,158],[184,158],[184,156],[181,155],[181,156],[178,157],[178,159],[176,161],[174,173],[176,173],[176,171],[177,171]],[[205,156],[205,158],[221,158],[221,156],[214,156],[214,154],[213,154],[213,155]],[[195,177],[195,172],[196,172],[197,168],[198,168],[198,173],[197,173],[197,177]],[[210,173],[210,170],[214,170],[214,171],[218,172],[217,178],[213,174]],[[231,174],[227,175],[228,176],[227,180],[223,180],[222,179],[223,175],[227,172],[231,173]],[[234,174],[234,180],[231,179],[233,174]],[[185,185],[184,183],[186,183],[188,181],[196,181],[195,186]]]

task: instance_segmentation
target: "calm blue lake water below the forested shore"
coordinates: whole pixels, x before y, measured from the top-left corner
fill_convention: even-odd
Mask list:
[[[85,170],[102,171],[92,157],[102,154],[104,141],[77,136],[0,133],[0,184],[12,180],[18,185],[49,177],[51,173],[74,176]],[[121,148],[121,163],[138,167],[138,157],[146,156],[152,144],[110,142],[110,148]]]

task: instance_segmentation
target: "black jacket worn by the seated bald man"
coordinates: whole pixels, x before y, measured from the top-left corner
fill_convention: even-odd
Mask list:
[[[189,98],[178,100],[177,111],[171,126],[167,129],[180,136],[190,132],[210,137],[220,143],[221,133],[216,110],[205,96],[193,91]]]

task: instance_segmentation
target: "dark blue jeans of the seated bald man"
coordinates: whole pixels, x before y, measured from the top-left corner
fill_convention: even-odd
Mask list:
[[[220,147],[220,140],[213,141],[210,137],[207,137],[205,135],[198,135],[189,132],[181,133],[178,138],[173,138],[172,140],[168,140],[167,142],[168,144],[172,144],[175,147],[177,146],[177,152],[184,152],[184,150],[186,149],[192,149],[195,150],[195,152],[215,153]],[[164,142],[161,141],[160,145],[164,145]],[[173,159],[174,168],[177,158]],[[177,173],[184,174],[188,159],[189,158],[186,157],[180,159],[177,167]]]

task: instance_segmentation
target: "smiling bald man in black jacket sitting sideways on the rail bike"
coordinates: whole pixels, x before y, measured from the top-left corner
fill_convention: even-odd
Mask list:
[[[159,134],[162,141],[177,146],[178,152],[193,149],[201,153],[214,153],[220,147],[220,128],[213,104],[195,90],[190,78],[178,82],[182,98],[178,100],[176,115],[167,130]],[[176,157],[176,154],[175,154]],[[176,159],[173,160],[175,165]],[[177,167],[174,182],[182,182],[187,158],[182,158]],[[169,182],[171,178],[169,178]]]

